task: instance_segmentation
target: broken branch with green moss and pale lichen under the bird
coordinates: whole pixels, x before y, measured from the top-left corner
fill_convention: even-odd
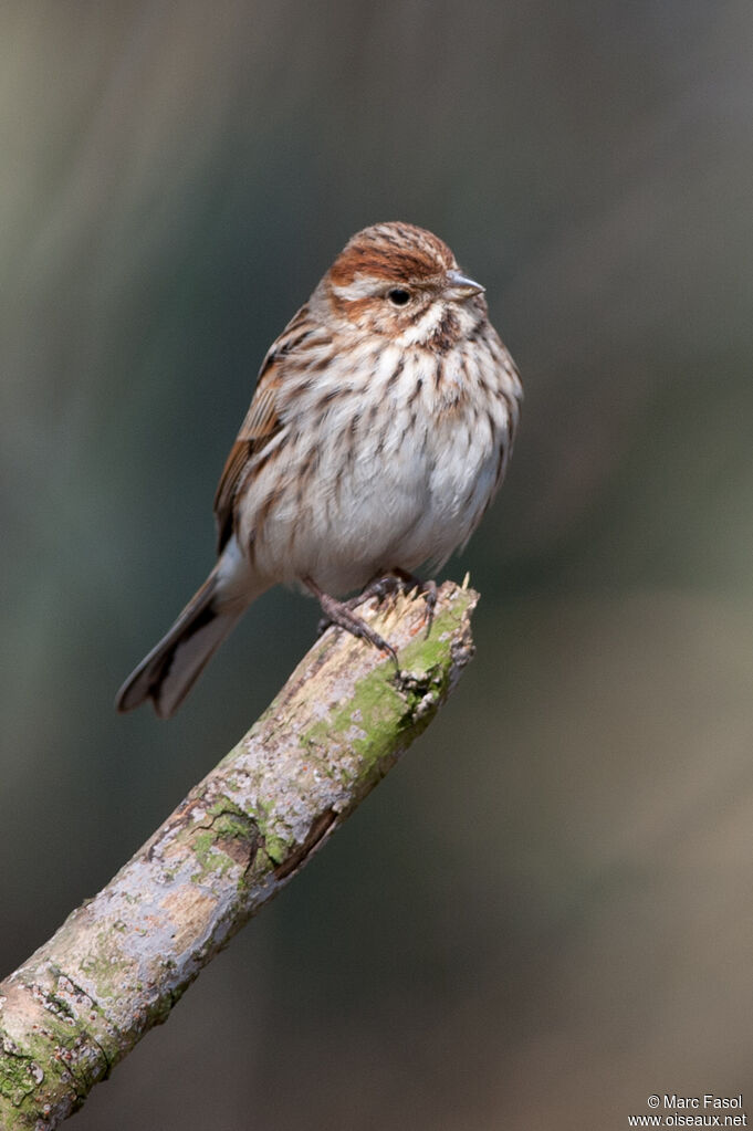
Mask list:
[[[477,596],[445,582],[364,615],[398,650],[330,629],[258,723],[94,899],[0,983],[0,1129],[81,1106],[236,931],[427,726],[473,656]]]

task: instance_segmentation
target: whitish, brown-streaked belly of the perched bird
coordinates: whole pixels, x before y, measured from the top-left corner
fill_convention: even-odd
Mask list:
[[[293,442],[292,422],[253,484],[241,539],[272,582],[310,577],[338,596],[397,567],[439,567],[481,519],[507,439],[502,403],[495,421],[460,407],[432,414],[429,398],[371,418],[358,404],[347,398],[330,414],[314,450]],[[265,516],[256,526],[254,512]]]

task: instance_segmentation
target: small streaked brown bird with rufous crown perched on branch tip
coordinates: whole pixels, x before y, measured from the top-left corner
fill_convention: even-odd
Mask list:
[[[118,709],[152,699],[172,715],[278,582],[392,653],[355,610],[465,545],[504,476],[521,395],[484,287],[445,243],[399,223],[354,235],[263,360],[215,498],[217,564]]]

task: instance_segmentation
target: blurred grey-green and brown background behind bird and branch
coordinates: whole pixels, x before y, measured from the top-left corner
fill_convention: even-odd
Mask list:
[[[464,683],[81,1131],[753,1117],[752,55],[750,0],[0,8],[2,974],[313,639],[272,592],[113,711],[348,236],[438,232],[526,385]]]

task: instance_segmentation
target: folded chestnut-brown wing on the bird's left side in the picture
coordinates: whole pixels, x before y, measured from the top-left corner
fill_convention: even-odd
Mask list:
[[[311,321],[308,307],[302,307],[270,346],[259,370],[257,388],[241,431],[230,450],[215,494],[217,552],[222,553],[233,533],[234,503],[252,457],[261,451],[283,428],[277,415],[277,392],[283,379],[285,360],[309,337]]]

